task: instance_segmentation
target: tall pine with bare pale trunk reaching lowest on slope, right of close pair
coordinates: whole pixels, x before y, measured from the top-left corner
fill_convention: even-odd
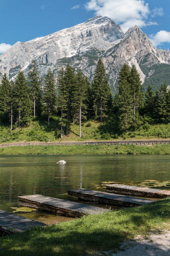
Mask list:
[[[79,121],[79,138],[81,138],[81,120],[86,119],[87,108],[87,84],[82,72],[79,70],[76,75],[72,98],[72,109],[74,116]]]

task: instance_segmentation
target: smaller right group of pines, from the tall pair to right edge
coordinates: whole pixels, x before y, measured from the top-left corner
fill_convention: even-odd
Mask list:
[[[139,129],[143,123],[168,123],[170,121],[170,90],[161,84],[145,93],[139,73],[133,65],[124,64],[118,76],[118,92],[113,99],[113,114],[122,132]]]

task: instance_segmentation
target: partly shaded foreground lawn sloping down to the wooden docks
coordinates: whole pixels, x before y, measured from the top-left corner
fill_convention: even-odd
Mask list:
[[[105,255],[125,238],[170,229],[170,198],[147,206],[84,216],[0,238],[0,255]],[[109,255],[109,254],[107,254]]]

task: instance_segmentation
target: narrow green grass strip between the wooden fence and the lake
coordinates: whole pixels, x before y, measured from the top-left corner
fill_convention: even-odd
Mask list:
[[[170,145],[49,145],[0,148],[0,155],[170,155]]]

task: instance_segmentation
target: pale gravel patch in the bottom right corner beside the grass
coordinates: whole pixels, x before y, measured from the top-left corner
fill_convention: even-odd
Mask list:
[[[170,231],[148,236],[137,236],[133,241],[126,240],[111,256],[168,256],[170,255]]]

